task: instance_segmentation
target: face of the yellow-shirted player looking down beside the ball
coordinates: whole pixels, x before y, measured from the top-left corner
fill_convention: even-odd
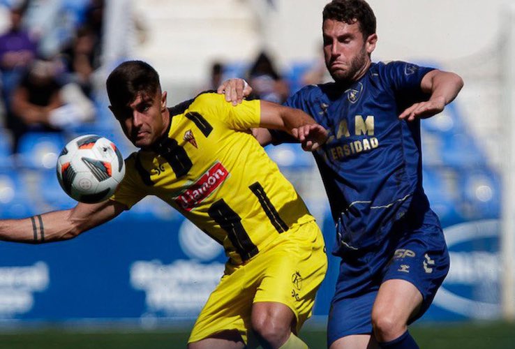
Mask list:
[[[170,118],[166,108],[166,92],[154,96],[138,94],[127,106],[110,106],[127,138],[136,147],[148,148],[167,130]]]

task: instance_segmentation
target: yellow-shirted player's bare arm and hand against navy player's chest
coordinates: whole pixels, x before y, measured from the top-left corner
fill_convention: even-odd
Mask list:
[[[314,151],[327,140],[327,131],[306,112],[268,101],[260,101],[260,105],[260,126],[290,133],[304,150]]]

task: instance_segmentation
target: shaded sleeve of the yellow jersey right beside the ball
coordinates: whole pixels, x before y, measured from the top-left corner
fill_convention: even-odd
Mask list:
[[[136,154],[133,153],[126,158],[124,179],[110,198],[112,201],[125,205],[127,209],[147,196],[147,191],[144,190],[145,184],[136,170]]]

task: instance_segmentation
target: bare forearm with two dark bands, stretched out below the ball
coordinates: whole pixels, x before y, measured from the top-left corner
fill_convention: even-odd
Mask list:
[[[43,244],[72,239],[80,233],[110,221],[124,211],[118,202],[79,202],[73,209],[37,214],[29,218],[0,220],[0,239]]]

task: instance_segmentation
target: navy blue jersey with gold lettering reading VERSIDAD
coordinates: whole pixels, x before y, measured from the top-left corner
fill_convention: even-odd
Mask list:
[[[334,254],[380,244],[408,211],[419,217],[428,211],[419,120],[398,115],[427,100],[420,84],[431,70],[401,61],[372,64],[350,87],[311,85],[286,101],[329,130],[328,142],[313,154],[336,223]]]

